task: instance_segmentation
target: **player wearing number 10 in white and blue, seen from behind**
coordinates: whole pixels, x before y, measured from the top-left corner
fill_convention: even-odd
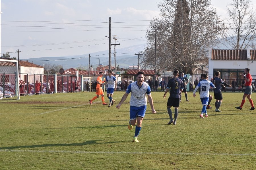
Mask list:
[[[212,82],[210,82],[209,80],[207,80],[208,75],[207,74],[203,74],[203,80],[200,81],[198,83],[198,85],[196,86],[193,96],[196,97],[195,92],[197,91],[197,89],[200,87],[200,99],[201,102],[203,104],[203,109],[202,112],[200,114],[201,118],[204,118],[203,114],[205,113],[205,117],[208,117],[208,114],[206,112],[206,106],[208,105],[208,101],[209,101],[209,92],[210,92],[210,87],[211,88],[215,88],[214,84],[212,84]]]

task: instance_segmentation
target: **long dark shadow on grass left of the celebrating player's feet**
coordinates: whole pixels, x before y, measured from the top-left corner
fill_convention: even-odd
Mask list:
[[[129,141],[99,142],[99,141],[103,141],[103,140],[92,140],[92,141],[85,141],[82,143],[56,143],[56,144],[42,144],[42,145],[6,146],[6,147],[0,147],[0,150],[1,149],[18,149],[18,148],[40,148],[40,147],[53,147],[53,146],[84,146],[84,145],[129,142]]]

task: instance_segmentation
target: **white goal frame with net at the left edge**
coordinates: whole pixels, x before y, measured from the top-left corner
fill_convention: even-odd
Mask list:
[[[0,100],[20,99],[18,60],[0,59]]]

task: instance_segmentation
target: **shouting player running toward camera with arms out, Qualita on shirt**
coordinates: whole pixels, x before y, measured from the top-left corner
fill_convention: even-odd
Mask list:
[[[147,105],[147,98],[146,94],[148,95],[148,102],[150,104],[152,113],[156,113],[153,105],[153,99],[151,97],[151,90],[147,83],[144,82],[144,73],[139,71],[137,73],[137,81],[131,83],[125,94],[123,95],[120,103],[116,105],[117,109],[120,109],[122,103],[127,99],[127,96],[131,93],[130,99],[130,121],[128,124],[128,129],[131,130],[133,126],[137,122],[137,126],[135,128],[135,135],[133,137],[134,142],[138,141],[138,135],[141,131],[142,127],[142,120],[145,116],[146,112],[146,105]]]

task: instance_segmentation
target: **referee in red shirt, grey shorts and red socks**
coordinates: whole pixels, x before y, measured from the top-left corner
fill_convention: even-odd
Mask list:
[[[250,69],[246,68],[244,69],[244,74],[242,74],[245,83],[242,84],[241,86],[238,87],[238,89],[242,88],[243,86],[245,86],[245,92],[243,94],[243,100],[240,106],[236,107],[236,109],[242,110],[243,104],[245,103],[245,98],[247,96],[249,102],[251,103],[251,109],[249,109],[249,111],[252,111],[255,109],[254,105],[253,105],[253,101],[251,99],[251,94],[252,94],[252,86],[251,86],[251,82],[252,82],[252,77],[249,73]]]

